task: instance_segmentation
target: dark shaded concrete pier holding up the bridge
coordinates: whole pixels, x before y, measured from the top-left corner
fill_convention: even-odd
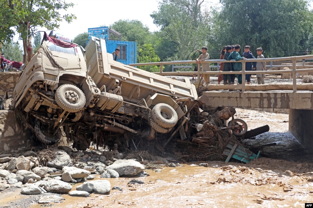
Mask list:
[[[313,110],[289,109],[289,131],[302,144],[313,152]]]

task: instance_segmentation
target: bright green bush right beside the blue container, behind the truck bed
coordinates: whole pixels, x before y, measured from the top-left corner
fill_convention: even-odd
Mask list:
[[[139,49],[138,63],[153,62],[160,62],[160,57],[155,54],[151,44],[143,44]],[[149,72],[160,72],[160,67],[156,65],[138,66],[138,68]]]

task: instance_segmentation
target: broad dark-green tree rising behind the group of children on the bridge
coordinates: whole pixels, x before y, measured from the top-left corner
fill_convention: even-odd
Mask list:
[[[304,0],[221,0],[215,37],[222,45],[262,47],[266,56],[290,56],[312,32],[312,11]]]

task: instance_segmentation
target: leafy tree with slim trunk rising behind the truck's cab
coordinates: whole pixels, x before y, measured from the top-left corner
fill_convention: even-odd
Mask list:
[[[61,0],[0,0],[0,2],[6,5],[5,9],[8,9],[12,18],[11,20],[4,19],[1,24],[16,28],[19,38],[23,40],[25,64],[27,64],[27,34],[35,32],[37,26],[55,30],[59,28],[59,22],[71,22],[76,18],[73,14],[61,15],[59,13],[59,10],[66,10],[74,5]],[[5,9],[2,8],[1,11]]]

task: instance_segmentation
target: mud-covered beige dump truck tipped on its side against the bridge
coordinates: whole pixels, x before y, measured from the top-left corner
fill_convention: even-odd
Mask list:
[[[102,39],[92,37],[84,49],[46,33],[12,101],[20,123],[39,141],[58,142],[63,128],[78,150],[91,142],[113,149],[127,145],[129,137],[152,140],[173,132],[197,104],[189,79],[172,80],[114,61]],[[117,142],[121,139],[126,142]]]

